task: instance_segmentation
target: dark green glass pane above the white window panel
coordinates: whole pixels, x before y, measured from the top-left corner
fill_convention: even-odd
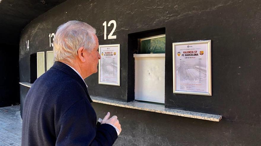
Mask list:
[[[165,53],[166,37],[141,41],[141,54]]]

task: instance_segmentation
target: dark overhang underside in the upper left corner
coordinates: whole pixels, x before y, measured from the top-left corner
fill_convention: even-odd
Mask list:
[[[1,0],[0,43],[19,45],[20,33],[26,24],[64,1],[66,0]]]

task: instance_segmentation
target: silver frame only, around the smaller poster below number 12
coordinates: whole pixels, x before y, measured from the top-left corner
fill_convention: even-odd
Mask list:
[[[101,55],[101,47],[118,47],[118,58],[117,58],[117,83],[106,83],[101,82],[101,59],[99,59],[99,76],[98,76],[98,84],[103,85],[113,85],[120,86],[120,44],[112,44],[112,45],[99,45],[99,54]]]

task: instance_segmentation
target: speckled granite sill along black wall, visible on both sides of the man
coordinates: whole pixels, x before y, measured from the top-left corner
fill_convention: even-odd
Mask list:
[[[20,82],[20,84],[29,88],[32,85],[31,83],[27,83],[27,82]],[[156,112],[161,114],[170,114],[175,116],[202,119],[202,120],[208,120],[214,122],[219,122],[222,118],[222,116],[220,115],[199,113],[193,111],[184,111],[179,109],[168,109],[165,108],[164,106],[148,104],[140,101],[122,102],[122,101],[114,101],[114,100],[103,99],[98,97],[91,97],[91,99],[93,100],[93,102],[97,102],[101,104],[108,104],[108,105],[125,107],[130,109],[139,109],[143,111],[151,111],[151,112]]]

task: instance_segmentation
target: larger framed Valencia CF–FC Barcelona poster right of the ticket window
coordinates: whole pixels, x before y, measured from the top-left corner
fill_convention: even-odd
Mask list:
[[[211,40],[175,42],[173,93],[211,96]]]

